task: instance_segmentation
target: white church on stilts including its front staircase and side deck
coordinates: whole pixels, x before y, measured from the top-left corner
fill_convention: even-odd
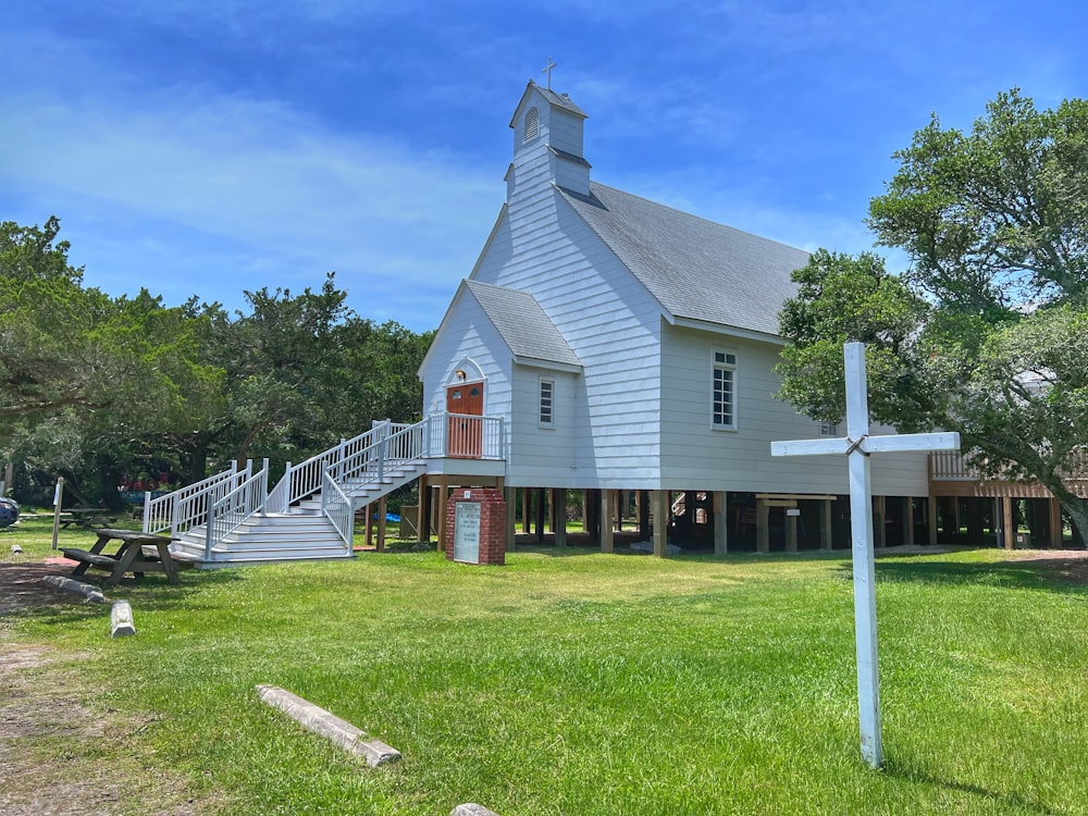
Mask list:
[[[360,515],[379,508],[381,548],[390,493],[419,480],[403,518],[455,558],[447,528],[475,491],[489,558],[518,541],[519,519],[530,541],[535,522],[536,542],[547,528],[562,545],[571,515],[605,552],[618,536],[652,537],[658,555],[845,546],[842,457],[770,455],[837,435],[775,397],[778,313],[807,254],[591,181],[585,119],[526,88],[506,202],[419,369],[421,421],[374,422],[287,462],[274,486],[268,460],[235,462],[149,496],[144,531],[169,530],[174,556],[205,568],[350,558]],[[1083,474],[1072,484],[1088,495]],[[936,543],[938,523],[953,543],[1064,541],[1046,489],[986,481],[953,452],[874,457],[871,486],[878,546],[919,531]]]

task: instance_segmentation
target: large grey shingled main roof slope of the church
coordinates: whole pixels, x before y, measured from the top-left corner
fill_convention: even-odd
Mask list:
[[[589,196],[559,193],[673,322],[778,334],[807,252],[595,182]]]

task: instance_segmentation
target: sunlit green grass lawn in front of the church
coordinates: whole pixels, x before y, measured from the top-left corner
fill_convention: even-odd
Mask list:
[[[16,540],[40,559],[49,524],[3,555]],[[77,598],[3,628],[61,655],[91,710],[141,724],[119,763],[224,814],[1088,813],[1088,586],[1004,556],[878,558],[880,771],[858,750],[849,553],[368,553],[109,592],[135,638]],[[258,683],[404,759],[367,768]],[[134,793],[111,811],[157,812]]]

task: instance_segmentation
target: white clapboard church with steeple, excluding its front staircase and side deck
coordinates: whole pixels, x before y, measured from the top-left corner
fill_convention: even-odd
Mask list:
[[[592,181],[585,120],[533,82],[514,112],[506,202],[419,370],[424,413],[452,415],[428,483],[507,490],[511,537],[516,491],[559,518],[581,492],[605,549],[618,505],[718,553],[830,546],[842,461],[770,456],[836,432],[774,396],[778,312],[807,254]],[[928,472],[925,454],[874,461],[898,541],[915,510],[925,523]]]

